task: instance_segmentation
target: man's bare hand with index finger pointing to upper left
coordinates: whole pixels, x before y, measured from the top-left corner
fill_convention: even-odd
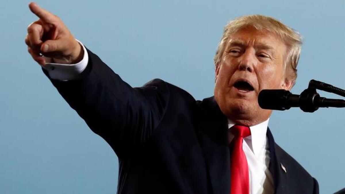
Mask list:
[[[61,19],[31,2],[29,8],[39,20],[28,26],[25,43],[40,65],[47,62],[73,64],[83,57],[83,49]]]

